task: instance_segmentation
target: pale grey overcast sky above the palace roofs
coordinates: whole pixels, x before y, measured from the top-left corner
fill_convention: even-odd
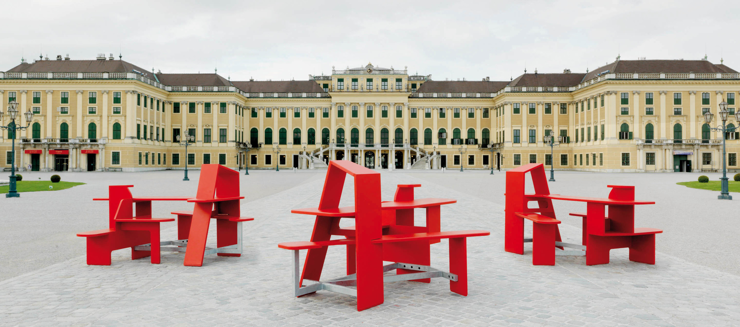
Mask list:
[[[0,69],[70,54],[232,80],[375,66],[434,80],[585,72],[622,59],[740,70],[737,1],[4,1]]]

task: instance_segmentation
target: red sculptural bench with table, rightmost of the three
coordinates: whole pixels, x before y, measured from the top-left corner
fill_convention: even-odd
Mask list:
[[[531,174],[534,193],[525,193],[525,175]],[[610,249],[629,248],[630,261],[655,264],[655,228],[634,227],[634,206],[655,204],[635,200],[633,186],[607,185],[607,199],[551,194],[542,164],[522,165],[506,172],[505,250],[524,254],[532,242],[532,264],[554,265],[556,255],[585,255],[586,264],[608,264]],[[562,242],[552,200],[586,202],[582,217],[582,244]],[[530,207],[536,202],[537,207]],[[606,210],[608,208],[608,215]],[[524,238],[524,220],[533,224],[532,238]],[[565,247],[576,249],[564,250]],[[556,251],[562,249],[563,251]]]

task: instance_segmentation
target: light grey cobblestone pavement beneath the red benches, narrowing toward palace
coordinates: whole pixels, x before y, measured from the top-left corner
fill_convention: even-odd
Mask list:
[[[351,204],[351,179],[343,205]],[[1,326],[738,326],[737,276],[664,253],[656,265],[628,261],[626,249],[611,263],[585,266],[585,258],[559,257],[555,266],[532,266],[531,252],[503,251],[503,207],[414,173],[383,173],[383,199],[396,184],[421,183],[417,196],[458,199],[442,209],[443,230],[491,230],[468,240],[468,297],[449,292],[447,280],[385,285],[385,303],[358,312],[353,297],[327,291],[292,297],[291,252],[281,241],[306,241],[313,218],[289,213],[314,207],[323,179],[311,179],[245,202],[240,258],[206,256],[204,266],[182,265],[163,252],[162,264],[113,253],[111,266],[87,266],[84,257],[0,281]],[[244,182],[243,182],[244,184]],[[425,185],[427,187],[425,187]],[[422,217],[422,211],[417,216]],[[100,213],[101,224],[104,212]],[[97,225],[95,225],[97,226]],[[175,238],[174,223],[163,239]],[[659,226],[650,226],[659,227]],[[96,227],[90,226],[87,230]],[[562,225],[566,241],[580,230]],[[662,235],[657,235],[660,242]],[[215,239],[215,238],[211,238]],[[84,242],[79,243],[80,246]],[[531,248],[531,247],[530,247]],[[432,246],[432,266],[447,269],[446,241]],[[303,255],[304,252],[301,254]],[[343,275],[343,247],[332,247],[324,278]]]

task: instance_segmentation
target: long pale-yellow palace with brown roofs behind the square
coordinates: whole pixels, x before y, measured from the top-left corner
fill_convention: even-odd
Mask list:
[[[734,113],[740,73],[703,60],[620,60],[591,72],[508,81],[433,80],[407,69],[332,69],[308,80],[229,80],[147,71],[110,55],[21,61],[0,72],[0,108],[33,112],[18,131],[20,171],[326,168],[714,171],[721,132],[702,114]],[[730,115],[731,128],[740,125]],[[10,123],[7,114],[3,125]],[[711,125],[711,126],[710,126]],[[562,136],[554,148],[545,136]],[[187,147],[182,137],[195,135]],[[740,169],[739,133],[727,167]],[[181,140],[178,141],[178,136]],[[10,170],[12,132],[0,135]],[[552,151],[552,156],[551,156]]]

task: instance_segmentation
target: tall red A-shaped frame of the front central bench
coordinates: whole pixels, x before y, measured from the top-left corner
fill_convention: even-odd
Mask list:
[[[383,303],[383,244],[371,243],[383,234],[380,173],[346,160],[329,162],[311,241],[329,241],[331,238],[332,224],[341,218],[337,213],[342,209],[339,202],[347,174],[354,177],[354,213],[351,214],[355,219],[357,310],[364,310]],[[326,250],[327,247],[308,250],[300,285],[303,285],[303,279],[320,280]]]

